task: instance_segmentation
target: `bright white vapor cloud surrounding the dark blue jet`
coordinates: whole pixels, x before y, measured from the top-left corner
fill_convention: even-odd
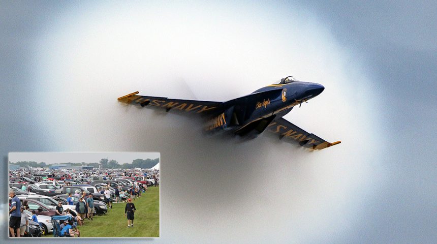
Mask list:
[[[323,242],[353,234],[363,202],[385,177],[371,74],[304,10],[195,6],[86,6],[43,29],[33,96],[48,146],[159,151],[156,242]],[[210,137],[196,118],[117,102],[136,90],[226,101],[287,75],[325,90],[285,118],[340,145],[310,152],[267,135]]]

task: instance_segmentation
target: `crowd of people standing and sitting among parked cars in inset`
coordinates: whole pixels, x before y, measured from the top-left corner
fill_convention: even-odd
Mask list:
[[[157,175],[159,174],[153,174],[153,176],[150,177],[154,179],[154,182],[151,186],[155,186],[155,187],[158,186],[159,180]],[[124,174],[124,176],[126,176],[126,174]],[[91,184],[92,180],[88,179],[87,177],[91,177],[91,174],[84,174],[81,176],[81,179],[85,179],[83,184]],[[132,174],[127,174],[127,177],[132,177]],[[69,181],[67,177],[64,178],[65,179],[63,180],[51,179],[52,180],[51,182],[53,185],[59,185],[61,188],[76,185],[75,182]],[[77,179],[79,177],[76,176],[75,178]],[[71,177],[72,180],[75,178]],[[107,180],[109,181],[111,178],[114,179],[114,177],[110,177],[108,173],[106,173],[104,174],[103,181],[107,181]],[[41,178],[35,178],[35,179],[42,181]],[[59,181],[62,181],[61,184],[59,184]],[[30,183],[23,184],[20,190],[22,192],[30,193],[31,190],[29,186]],[[81,186],[91,187],[91,185],[81,185]],[[130,187],[126,187],[126,186],[122,187],[121,185],[119,185],[117,187],[112,188],[110,183],[108,182],[106,185],[100,184],[99,186],[96,186],[96,189],[97,189],[97,193],[103,194],[104,202],[106,203],[108,211],[111,208],[113,208],[113,204],[126,203],[126,206],[124,207],[125,208],[124,216],[128,222],[127,226],[129,228],[133,227],[134,219],[135,219],[134,215],[136,211],[136,207],[133,201],[136,198],[142,196],[143,191],[147,190],[147,185],[141,184],[133,180]],[[16,189],[15,190],[10,189],[9,191],[9,196],[11,198],[10,211],[9,211],[10,213],[9,227],[10,227],[10,234],[12,237],[23,236],[28,226],[29,220],[36,223],[40,223],[38,221],[38,215],[35,210],[31,210],[32,219],[28,218],[26,214],[23,214],[23,210],[29,210],[28,203],[26,200],[20,201],[20,198],[18,198],[15,195],[15,192]],[[77,199],[74,200],[74,197],[77,198],[78,200]],[[96,215],[95,201],[96,200],[91,192],[80,191],[80,190],[76,190],[74,194],[69,193],[66,199],[67,204],[73,205],[74,207],[65,208],[66,207],[64,205],[65,202],[59,201],[58,205],[53,209],[55,211],[55,215],[70,217],[68,220],[60,221],[59,236],[79,237],[81,233],[78,229],[78,226],[83,226],[85,224],[84,223],[85,220],[91,223]]]

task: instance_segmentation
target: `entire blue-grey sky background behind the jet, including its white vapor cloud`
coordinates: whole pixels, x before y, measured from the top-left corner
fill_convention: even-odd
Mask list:
[[[4,172],[10,151],[161,153],[154,242],[437,242],[434,1],[0,6]],[[116,101],[227,101],[287,75],[325,90],[285,118],[341,144],[204,136]]]

